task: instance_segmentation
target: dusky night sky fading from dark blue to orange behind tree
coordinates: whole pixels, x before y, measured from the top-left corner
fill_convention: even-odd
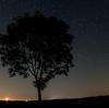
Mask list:
[[[0,0],[0,33],[15,16],[36,10],[57,16],[74,35],[74,68],[49,82],[43,97],[80,98],[109,95],[109,0]],[[0,99],[35,99],[33,79],[9,77],[0,67]]]

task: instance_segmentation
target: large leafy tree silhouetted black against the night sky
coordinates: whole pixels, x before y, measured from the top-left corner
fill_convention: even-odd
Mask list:
[[[41,91],[56,75],[68,75],[73,65],[72,35],[69,25],[40,12],[15,17],[0,37],[0,58],[10,76],[33,75],[38,100]]]

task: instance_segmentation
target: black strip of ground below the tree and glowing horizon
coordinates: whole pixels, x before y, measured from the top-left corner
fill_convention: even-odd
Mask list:
[[[102,106],[102,108],[109,108],[109,96],[99,97],[88,97],[80,99],[53,99],[53,100],[43,100],[43,101],[0,101],[0,108],[5,107],[76,107],[76,106],[87,106],[89,108],[95,106]]]

